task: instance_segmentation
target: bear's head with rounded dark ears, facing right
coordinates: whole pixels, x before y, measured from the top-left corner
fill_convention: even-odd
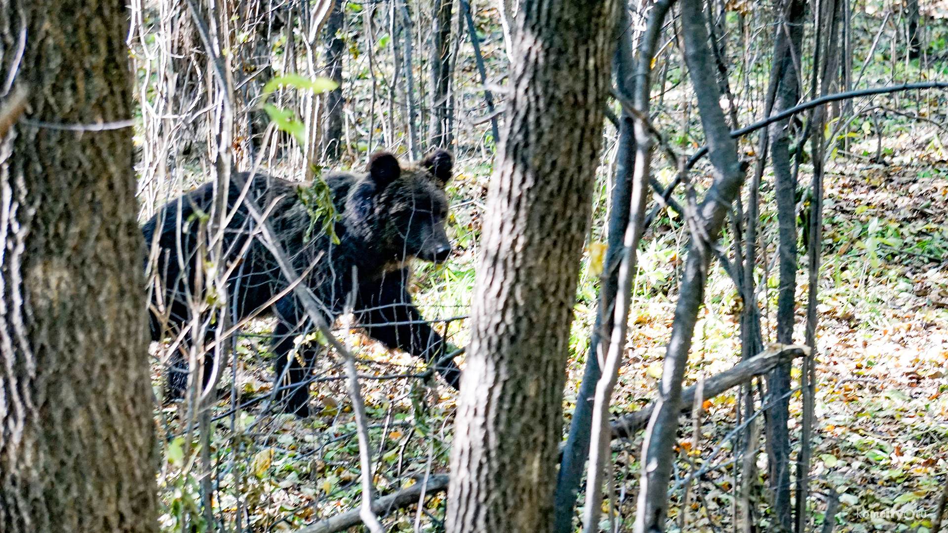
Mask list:
[[[402,167],[392,154],[369,159],[368,174],[353,188],[344,216],[382,263],[411,257],[444,263],[451,254],[447,239],[447,195],[453,158],[438,150],[416,165]]]

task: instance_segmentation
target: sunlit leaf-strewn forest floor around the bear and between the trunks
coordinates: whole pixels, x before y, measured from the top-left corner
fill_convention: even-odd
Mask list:
[[[918,533],[927,533],[941,493],[938,479],[948,474],[948,156],[939,137],[929,133],[913,130],[885,138],[886,164],[868,161],[875,154],[875,144],[866,141],[865,146],[854,142],[848,155],[835,156],[828,166],[811,467],[814,525],[822,522],[828,497],[835,491],[841,504],[835,517],[837,531],[917,527]],[[447,330],[455,344],[465,345],[465,313],[489,167],[483,157],[460,163],[451,190],[458,206],[452,212],[451,232],[459,251],[447,267],[418,266],[416,299],[428,318],[458,318],[447,324]],[[659,177],[667,181],[667,176],[659,173]],[[801,173],[800,181],[801,186],[809,183],[809,176]],[[762,219],[773,215],[765,207]],[[774,331],[772,237],[767,233],[761,237],[762,242],[771,243],[765,248],[770,277],[759,298],[765,343],[773,340]],[[729,238],[725,234],[722,244],[729,245]],[[682,225],[674,217],[660,218],[647,233],[632,305],[634,326],[627,363],[613,396],[614,414],[640,409],[654,395],[677,300],[679,254],[684,254],[685,244]],[[577,292],[573,357],[564,397],[567,422],[594,319],[594,256],[587,254],[584,260]],[[800,264],[798,342],[804,339],[807,305],[804,256]],[[715,267],[696,327],[689,383],[737,362],[739,306],[735,297],[733,283]],[[296,529],[350,509],[358,503],[359,489],[355,424],[337,362],[320,359],[319,381],[312,387],[314,416],[299,419],[273,414],[266,397],[271,391],[271,370],[261,364],[269,358],[265,337],[271,327],[270,322],[255,322],[242,338],[237,371],[233,375],[228,371],[221,386],[226,392],[215,413],[224,416],[211,445],[221,458],[215,474],[215,507],[230,520],[240,513],[254,530],[275,531]],[[339,327],[337,331],[355,347],[366,375],[391,377],[420,370],[418,361],[388,353],[356,330]],[[155,386],[160,388],[158,370],[156,366]],[[231,387],[234,377],[236,388]],[[794,368],[794,387],[798,377]],[[229,414],[234,390],[239,391],[242,403],[255,403]],[[383,378],[364,380],[363,393],[373,422],[375,485],[380,494],[408,487],[426,472],[447,472],[453,392],[443,385],[428,387],[417,378]],[[684,530],[717,533],[733,527],[735,454],[728,433],[735,427],[738,395],[719,395],[706,401],[705,409],[701,438],[694,449],[691,423],[683,419],[680,433],[688,459],[696,467],[708,467],[693,489],[697,498]],[[167,404],[160,418],[168,437],[164,439],[167,461],[159,478],[166,505],[165,530],[176,528],[188,512],[195,516],[193,509],[199,501],[193,466],[197,450],[192,449],[191,458],[182,456],[179,410],[179,405]],[[799,437],[800,412],[796,393],[791,403],[793,439]],[[613,445],[615,518],[627,525],[634,518],[641,438],[640,434]],[[798,440],[794,447],[795,458]],[[766,461],[766,453],[760,453],[758,508],[769,506],[763,489]],[[687,468],[683,455],[676,479]],[[676,493],[669,509],[676,523],[682,519],[680,498],[681,493]],[[443,512],[444,494],[434,494],[417,520],[423,530],[439,530]],[[770,518],[769,514],[759,517],[760,524],[768,524]],[[392,531],[410,531],[415,521],[416,509],[411,508],[394,513],[386,523]]]

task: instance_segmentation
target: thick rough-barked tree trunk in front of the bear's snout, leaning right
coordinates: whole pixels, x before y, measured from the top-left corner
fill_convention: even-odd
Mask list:
[[[447,531],[552,531],[576,276],[618,2],[521,5],[488,194]]]

